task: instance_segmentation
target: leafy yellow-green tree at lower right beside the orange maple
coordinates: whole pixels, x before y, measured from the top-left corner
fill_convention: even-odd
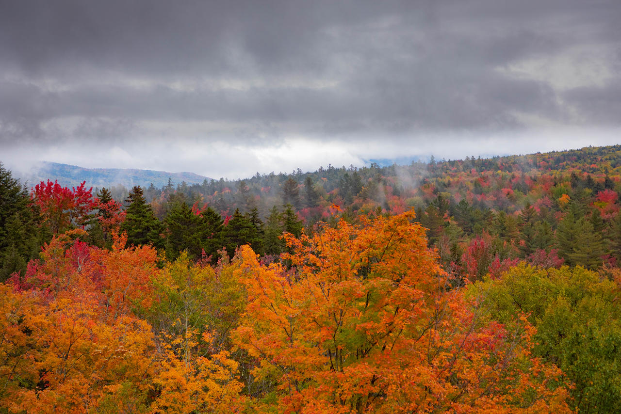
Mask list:
[[[621,308],[618,287],[584,268],[540,269],[520,264],[501,279],[475,284],[488,317],[510,323],[525,313],[537,327],[535,356],[554,362],[574,384],[581,413],[621,407]]]

